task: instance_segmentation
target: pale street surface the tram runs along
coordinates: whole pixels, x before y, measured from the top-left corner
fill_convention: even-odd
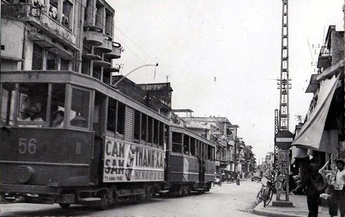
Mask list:
[[[152,198],[140,200],[137,205],[121,203],[104,211],[79,205],[63,210],[59,205],[3,204],[0,216],[256,216],[252,210],[260,187],[260,183],[250,180],[239,186],[223,183],[206,194]]]

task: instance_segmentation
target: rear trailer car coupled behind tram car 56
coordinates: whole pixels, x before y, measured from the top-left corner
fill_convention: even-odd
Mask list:
[[[183,196],[190,191],[208,192],[215,180],[215,143],[187,130],[170,125],[167,185]]]

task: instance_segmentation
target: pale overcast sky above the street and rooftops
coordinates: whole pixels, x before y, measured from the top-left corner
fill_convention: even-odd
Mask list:
[[[273,151],[279,108],[282,1],[108,0],[115,8],[115,63],[135,83],[170,82],[172,109],[193,116],[225,116],[257,158]],[[290,132],[313,94],[319,45],[329,25],[344,30],[343,0],[290,0],[288,47]]]

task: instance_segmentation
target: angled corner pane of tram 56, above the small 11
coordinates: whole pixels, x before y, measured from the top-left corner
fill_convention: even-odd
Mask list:
[[[73,88],[70,125],[75,127],[88,127],[89,110],[90,91]]]

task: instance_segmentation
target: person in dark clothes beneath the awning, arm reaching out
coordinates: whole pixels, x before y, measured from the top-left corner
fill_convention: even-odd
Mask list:
[[[328,163],[328,162],[327,162]],[[317,217],[319,213],[319,197],[321,192],[327,187],[326,177],[318,172],[318,167],[315,163],[311,163],[307,169],[306,180],[293,190],[293,193],[299,192],[304,187],[308,187],[306,192],[306,202],[308,204],[308,217]]]

